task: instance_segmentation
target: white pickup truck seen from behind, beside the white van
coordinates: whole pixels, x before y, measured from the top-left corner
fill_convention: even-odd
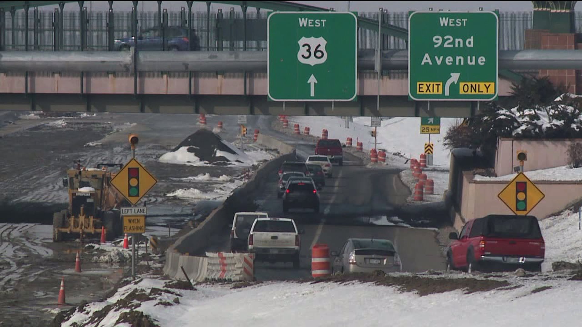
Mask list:
[[[293,219],[257,218],[249,233],[249,252],[256,261],[291,261],[293,268],[299,268],[302,233]]]

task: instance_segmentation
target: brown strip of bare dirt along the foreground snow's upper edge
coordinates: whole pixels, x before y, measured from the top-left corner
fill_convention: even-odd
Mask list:
[[[510,284],[501,280],[474,279],[474,278],[431,278],[424,276],[389,276],[379,273],[362,273],[351,275],[333,275],[328,278],[315,280],[320,282],[371,282],[375,285],[396,286],[404,292],[417,292],[420,296],[444,293],[453,290],[465,290],[465,293],[485,292]]]

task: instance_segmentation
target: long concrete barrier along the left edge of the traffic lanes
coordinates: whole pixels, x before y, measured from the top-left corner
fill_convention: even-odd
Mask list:
[[[194,258],[192,255],[201,253],[211,242],[212,236],[224,226],[232,222],[232,217],[241,204],[247,204],[253,201],[253,194],[259,190],[265,183],[272,182],[269,175],[278,170],[284,161],[292,161],[297,158],[295,148],[289,144],[283,143],[274,137],[264,134],[258,134],[257,144],[279,152],[279,156],[268,162],[254,172],[253,176],[243,186],[235,189],[221,206],[214,209],[210,215],[197,228],[179,237],[175,243],[166,250],[166,263],[164,265],[164,274],[171,278],[184,278],[180,262],[187,263],[184,266],[190,279],[196,280],[193,276],[201,273],[205,274],[207,262]],[[189,268],[187,268],[188,266]]]

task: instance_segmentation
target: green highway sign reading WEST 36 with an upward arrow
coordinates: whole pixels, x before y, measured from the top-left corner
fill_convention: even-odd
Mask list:
[[[267,19],[268,95],[274,101],[352,101],[357,17],[351,12],[273,12]]]

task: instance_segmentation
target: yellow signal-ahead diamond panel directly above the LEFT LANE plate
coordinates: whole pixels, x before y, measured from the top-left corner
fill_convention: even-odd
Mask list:
[[[131,159],[111,180],[123,197],[135,205],[158,181],[136,159]]]

